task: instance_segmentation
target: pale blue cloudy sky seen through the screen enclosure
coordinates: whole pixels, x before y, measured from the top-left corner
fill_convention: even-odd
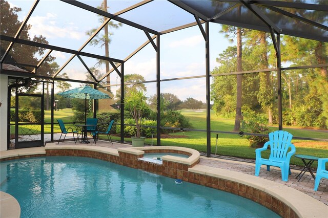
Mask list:
[[[19,20],[25,18],[33,3],[29,0],[8,2],[11,6],[22,8],[22,12],[18,13]],[[101,4],[101,1],[81,2],[94,7]],[[140,1],[108,0],[109,12],[116,13],[138,2]],[[189,13],[162,0],[148,3],[120,17],[131,19],[135,23],[157,31],[195,21]],[[86,32],[100,26],[98,19],[96,14],[67,3],[41,0],[28,21],[32,26],[29,34],[30,37],[45,36],[49,45],[78,50],[88,39]],[[218,55],[228,46],[234,46],[222,33],[219,33],[220,29],[221,25],[210,24],[210,71],[218,65],[216,62]],[[125,59],[148,39],[144,31],[128,25],[122,25],[119,29],[110,29],[110,32],[113,33],[109,46],[110,57],[117,59]],[[83,51],[105,56],[104,47],[88,45]],[[51,55],[56,57],[55,61],[59,66],[71,56],[56,51]],[[89,68],[94,67],[97,62],[93,58],[82,58]],[[105,66],[99,70],[105,73]],[[161,79],[205,75],[205,41],[198,26],[160,36],[160,71]],[[85,79],[87,70],[75,57],[62,72],[66,72],[71,79]],[[133,73],[141,74],[146,81],[156,79],[156,52],[150,44],[125,63],[125,74]],[[116,84],[116,81],[119,83],[116,73],[111,74],[111,81],[112,84]],[[72,88],[78,85],[74,84]],[[156,83],[146,83],[146,87],[148,96],[156,94]],[[175,94],[180,100],[192,97],[206,102],[205,78],[161,82],[160,87],[161,93]],[[117,88],[113,87],[112,91],[115,93]]]

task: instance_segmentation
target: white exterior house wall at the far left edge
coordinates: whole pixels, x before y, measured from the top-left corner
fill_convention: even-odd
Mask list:
[[[7,150],[8,76],[0,74],[0,151]]]

